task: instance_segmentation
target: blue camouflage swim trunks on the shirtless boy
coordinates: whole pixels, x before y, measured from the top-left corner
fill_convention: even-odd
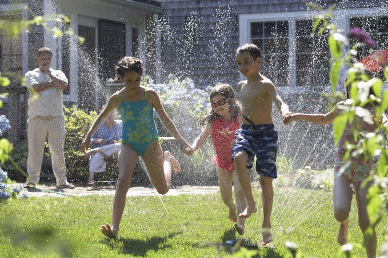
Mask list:
[[[232,149],[232,161],[234,154],[243,150],[248,154],[246,167],[253,167],[256,155],[256,171],[260,176],[277,178],[276,153],[279,134],[274,125],[241,125],[236,131],[236,145]]]

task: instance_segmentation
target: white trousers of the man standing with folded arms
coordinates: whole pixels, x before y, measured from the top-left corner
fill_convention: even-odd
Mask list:
[[[51,164],[57,185],[67,184],[64,155],[65,120],[63,116],[35,116],[28,120],[27,183],[40,179],[45,142],[49,143]]]

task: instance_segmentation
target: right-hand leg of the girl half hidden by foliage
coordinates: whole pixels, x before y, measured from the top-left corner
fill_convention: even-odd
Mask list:
[[[361,185],[358,185],[356,188],[356,201],[357,201],[357,210],[359,212],[359,225],[364,235],[365,230],[369,227],[369,218],[366,211],[366,194],[368,192],[368,188],[373,185],[373,182],[368,182],[365,185],[365,188],[362,188]],[[364,246],[366,249],[366,254],[368,258],[376,257],[376,246],[377,246],[377,236],[376,231],[373,229],[373,235],[367,239],[364,236]]]

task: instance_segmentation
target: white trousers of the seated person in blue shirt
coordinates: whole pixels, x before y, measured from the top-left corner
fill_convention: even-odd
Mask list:
[[[95,152],[90,157],[89,173],[105,172],[106,161],[104,160],[104,156],[111,156],[111,155],[118,154],[118,152],[120,151],[120,148],[121,148],[121,144],[115,143],[115,144],[104,145],[93,150],[89,150],[89,151]]]

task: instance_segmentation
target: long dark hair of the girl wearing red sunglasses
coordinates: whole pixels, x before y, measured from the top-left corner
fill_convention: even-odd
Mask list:
[[[210,92],[210,101],[217,95],[222,95],[227,99],[236,98],[236,94],[234,93],[234,89],[229,84],[217,84],[214,89]],[[230,118],[237,121],[237,117],[241,113],[241,104],[238,101],[229,101],[229,112],[230,112]],[[203,126],[205,122],[213,123],[213,121],[217,118],[221,117],[219,114],[214,112],[214,109],[212,108],[210,111],[210,114],[207,114],[206,116],[201,116],[197,119],[197,123],[199,127]]]

